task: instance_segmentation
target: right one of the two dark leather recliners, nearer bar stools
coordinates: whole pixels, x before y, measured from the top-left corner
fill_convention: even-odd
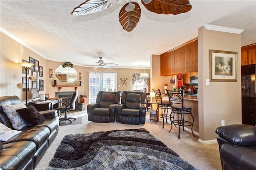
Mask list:
[[[146,117],[146,93],[124,91],[121,104],[116,105],[116,122],[130,125],[145,123]]]

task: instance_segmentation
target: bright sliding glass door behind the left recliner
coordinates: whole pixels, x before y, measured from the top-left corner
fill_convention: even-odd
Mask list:
[[[99,91],[116,91],[117,73],[89,73],[89,103],[95,103]]]

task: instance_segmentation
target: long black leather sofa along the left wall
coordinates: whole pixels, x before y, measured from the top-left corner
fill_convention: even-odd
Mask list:
[[[2,105],[21,103],[17,96],[0,97],[1,123],[12,128],[10,120],[3,112]],[[59,117],[56,110],[40,112],[45,121],[36,127],[24,127],[22,132],[1,142],[0,169],[33,170],[58,134]]]

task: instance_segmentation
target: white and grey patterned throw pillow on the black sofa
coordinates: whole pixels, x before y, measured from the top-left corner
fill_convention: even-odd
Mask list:
[[[12,123],[12,127],[16,130],[20,130],[27,126],[24,120],[20,117],[20,115],[16,112],[17,109],[26,108],[24,104],[16,104],[16,105],[2,105],[4,113],[10,119]]]

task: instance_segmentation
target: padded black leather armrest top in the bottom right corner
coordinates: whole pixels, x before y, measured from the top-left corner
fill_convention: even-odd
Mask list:
[[[216,128],[215,132],[232,144],[256,145],[256,127],[251,125],[227,125]]]

